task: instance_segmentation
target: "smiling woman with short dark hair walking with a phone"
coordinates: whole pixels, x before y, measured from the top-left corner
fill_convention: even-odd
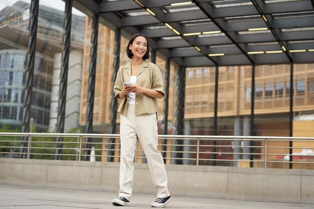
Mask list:
[[[144,35],[131,37],[126,54],[129,63],[119,68],[114,84],[114,95],[122,99],[120,113],[120,190],[119,198],[112,204],[130,204],[133,185],[134,155],[137,138],[146,155],[150,177],[156,188],[157,198],[152,207],[164,207],[171,196],[161,153],[157,150],[157,98],[164,96],[164,84],[160,69],[149,58],[148,42]],[[130,82],[131,85],[124,85]]]

